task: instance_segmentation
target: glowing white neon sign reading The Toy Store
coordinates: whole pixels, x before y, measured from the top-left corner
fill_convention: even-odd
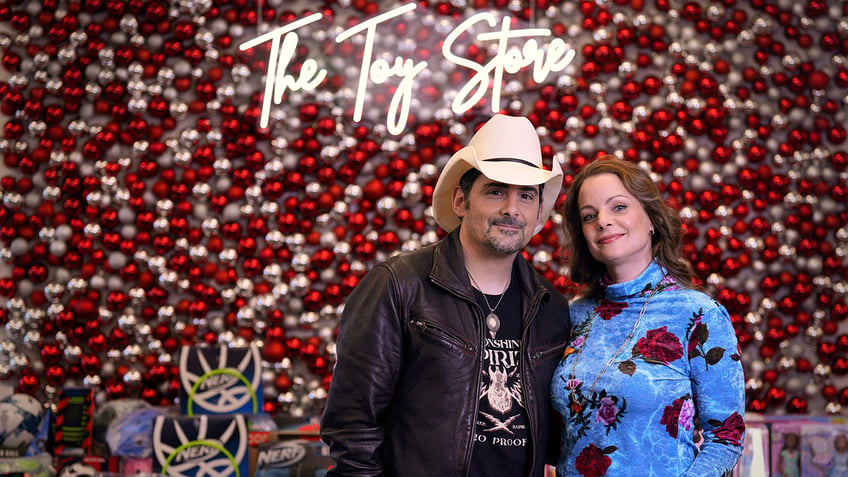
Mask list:
[[[401,134],[406,127],[415,77],[427,69],[428,63],[427,61],[416,62],[412,58],[403,56],[396,56],[393,62],[383,58],[372,61],[374,43],[377,29],[381,24],[411,12],[416,6],[415,3],[410,3],[377,15],[344,30],[335,39],[336,43],[342,43],[358,33],[364,32],[365,34],[364,52],[353,110],[354,121],[358,122],[362,119],[365,96],[369,87],[382,85],[393,79],[399,80],[389,103],[386,118],[387,130],[393,135]],[[313,13],[239,45],[239,49],[245,51],[257,45],[271,42],[265,78],[265,94],[259,120],[261,127],[268,126],[271,106],[278,105],[283,101],[286,90],[315,91],[327,77],[327,70],[320,67],[315,58],[304,60],[296,76],[287,71],[300,39],[297,31],[317,22],[321,17],[321,13]],[[474,38],[480,42],[494,42],[496,45],[494,57],[485,64],[463,58],[454,51],[456,41],[478,23],[488,25],[492,31],[479,33]],[[551,31],[547,28],[513,30],[511,29],[511,18],[508,16],[501,18],[500,29],[494,30],[497,25],[498,17],[495,14],[491,12],[477,13],[448,33],[442,43],[442,55],[444,55],[445,60],[473,73],[469,81],[460,87],[457,95],[453,98],[451,110],[454,113],[461,114],[468,111],[482,100],[490,89],[492,112],[496,112],[500,107],[501,84],[505,74],[515,74],[524,68],[532,67],[533,81],[542,83],[551,74],[563,71],[568,67],[576,55],[576,52],[569,48],[562,39],[550,38]],[[524,40],[520,48],[516,48],[515,44],[510,44],[510,40],[515,39]],[[549,41],[540,44],[539,39],[549,39]]]

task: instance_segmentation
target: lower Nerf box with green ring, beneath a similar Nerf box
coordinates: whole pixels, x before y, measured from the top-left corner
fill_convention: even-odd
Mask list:
[[[242,414],[157,416],[153,421],[153,473],[246,477],[247,427]]]

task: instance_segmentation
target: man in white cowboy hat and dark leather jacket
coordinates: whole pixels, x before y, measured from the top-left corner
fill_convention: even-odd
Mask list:
[[[436,183],[448,236],[351,293],[321,421],[328,475],[539,477],[554,461],[568,306],[519,253],[556,202],[552,169],[530,121],[495,115]]]

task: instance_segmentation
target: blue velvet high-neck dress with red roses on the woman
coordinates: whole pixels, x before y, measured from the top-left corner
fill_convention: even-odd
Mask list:
[[[551,383],[563,419],[557,477],[733,468],[745,384],[723,306],[652,262],[638,278],[608,284],[601,300],[572,303],[571,319],[572,341]]]

